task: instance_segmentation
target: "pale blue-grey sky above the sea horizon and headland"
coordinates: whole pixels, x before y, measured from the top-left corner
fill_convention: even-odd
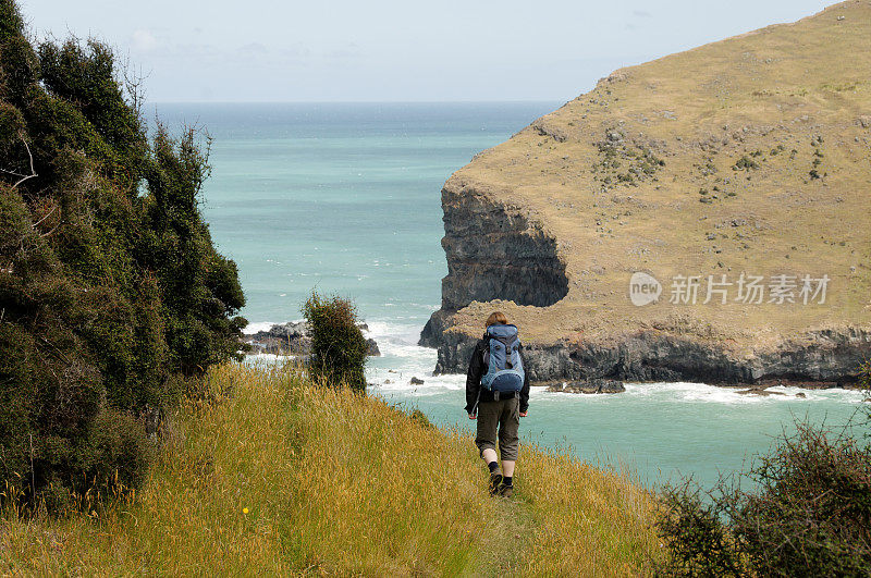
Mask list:
[[[21,0],[32,30],[97,36],[160,101],[560,100],[614,69],[815,0]]]

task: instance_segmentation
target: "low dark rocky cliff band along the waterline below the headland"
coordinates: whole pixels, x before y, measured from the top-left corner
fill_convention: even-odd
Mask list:
[[[450,328],[451,313],[437,311],[421,333],[420,345],[438,348],[437,374],[465,372],[477,341]],[[576,343],[531,343],[524,348],[530,380],[556,383],[560,391],[601,390],[601,383],[609,381],[687,381],[762,390],[773,385],[851,388],[859,367],[871,358],[871,331],[813,331],[751,354],[736,354],[716,340],[655,330]],[[608,385],[604,391],[619,389]]]

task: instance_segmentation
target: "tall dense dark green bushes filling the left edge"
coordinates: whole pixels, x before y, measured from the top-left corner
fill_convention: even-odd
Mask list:
[[[145,416],[238,348],[208,148],[137,102],[105,45],[35,50],[0,0],[0,487],[32,503],[135,488]]]

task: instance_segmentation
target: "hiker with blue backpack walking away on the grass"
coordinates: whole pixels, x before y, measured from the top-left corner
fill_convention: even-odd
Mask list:
[[[487,331],[469,360],[466,376],[466,413],[477,419],[475,445],[490,468],[490,495],[514,494],[514,465],[520,440],[520,418],[529,408],[529,377],[520,353],[517,328],[505,313],[487,318]],[[496,439],[502,457],[500,471]]]

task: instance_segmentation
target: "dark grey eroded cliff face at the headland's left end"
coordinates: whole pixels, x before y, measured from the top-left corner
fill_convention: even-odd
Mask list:
[[[450,182],[442,189],[442,309],[506,299],[545,307],[568,292],[556,241],[528,212]]]

